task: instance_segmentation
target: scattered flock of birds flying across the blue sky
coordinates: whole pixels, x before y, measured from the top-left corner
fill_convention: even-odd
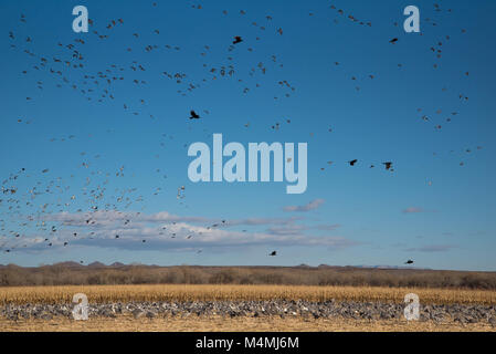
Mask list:
[[[157,7],[156,2],[152,2],[151,6],[154,8]],[[201,4],[191,6],[194,10],[202,10]],[[434,4],[435,11],[443,11],[439,4]],[[334,4],[330,4],[330,10],[334,11],[334,23],[339,23],[339,21],[351,21],[358,25],[363,27],[372,27],[370,21],[359,20],[353,14],[345,14],[342,9],[337,8]],[[446,10],[446,12],[451,12],[451,9]],[[228,11],[222,11],[223,15],[229,15]],[[239,14],[242,17],[247,17],[246,11],[240,10]],[[310,17],[314,15],[313,12],[309,13]],[[122,110],[125,113],[131,115],[141,115],[149,116],[150,118],[156,118],[156,115],[151,112],[147,111],[148,100],[146,97],[140,97],[135,102],[122,98],[115,92],[115,87],[118,85],[128,85],[135,88],[139,88],[143,86],[147,86],[148,82],[144,76],[144,73],[148,71],[148,65],[146,62],[138,62],[136,60],[129,60],[127,65],[108,63],[105,67],[102,67],[97,72],[92,72],[87,70],[87,55],[85,54],[85,48],[91,45],[93,41],[112,41],[114,35],[118,35],[118,31],[120,27],[126,25],[124,19],[115,19],[109,20],[107,23],[102,25],[97,25],[94,20],[89,20],[89,38],[85,39],[76,39],[73,43],[60,43],[55,44],[55,49],[57,54],[52,54],[53,51],[48,49],[46,53],[36,52],[33,49],[33,42],[35,39],[32,35],[27,37],[24,30],[22,28],[23,24],[27,23],[28,19],[24,14],[20,15],[20,28],[12,29],[9,31],[8,35],[11,41],[10,48],[14,51],[19,51],[24,53],[28,59],[25,64],[28,67],[22,70],[21,74],[25,76],[36,76],[39,77],[43,73],[45,74],[45,80],[34,80],[34,87],[36,90],[43,91],[44,87],[54,83],[59,88],[70,88],[75,92],[78,92],[84,100],[91,103],[105,103],[105,102],[119,102]],[[431,19],[425,19],[425,22],[431,23],[432,25],[437,25],[436,21]],[[279,56],[276,54],[272,54],[268,60],[257,61],[253,64],[252,67],[247,69],[247,75],[250,79],[253,79],[254,84],[250,86],[247,84],[247,80],[242,75],[243,67],[239,67],[236,65],[236,55],[240,54],[240,51],[253,52],[256,43],[262,40],[262,37],[265,32],[272,31],[272,35],[282,37],[284,35],[284,31],[281,27],[274,25],[274,19],[272,15],[267,14],[262,21],[253,21],[251,24],[254,29],[256,29],[256,34],[254,38],[245,38],[245,35],[239,35],[238,33],[233,33],[232,42],[225,44],[224,49],[224,62],[211,64],[208,63],[207,58],[209,53],[213,50],[210,45],[203,45],[201,49],[200,58],[205,59],[204,63],[202,63],[202,69],[204,75],[202,77],[194,77],[186,72],[173,72],[173,71],[163,71],[161,73],[152,73],[156,76],[160,76],[163,80],[171,81],[177,85],[177,94],[180,96],[187,96],[191,94],[196,90],[200,90],[209,84],[212,84],[220,80],[233,80],[241,85],[241,93],[243,95],[249,94],[251,91],[261,87],[264,84],[264,75],[268,70],[281,70],[284,67],[284,64],[281,62]],[[398,23],[394,23],[398,25]],[[181,46],[175,44],[165,44],[160,40],[160,30],[154,29],[151,30],[154,35],[156,35],[156,43],[141,43],[139,40],[143,37],[140,32],[134,32],[131,41],[126,41],[125,52],[134,53],[136,51],[145,51],[146,53],[150,52],[159,52],[159,51],[170,51],[170,52],[181,52]],[[462,33],[466,31],[462,29]],[[434,67],[439,66],[439,61],[442,58],[443,45],[445,42],[450,41],[450,35],[445,35],[443,40],[436,41],[430,50],[435,55]],[[388,41],[388,40],[386,40]],[[389,40],[391,45],[398,45],[400,40],[398,38],[392,38]],[[28,64],[30,63],[30,64]],[[333,66],[340,66],[341,63],[338,61],[331,62]],[[398,67],[402,67],[402,64],[399,63]],[[468,76],[468,71],[464,72],[465,76]],[[350,80],[353,82],[358,82],[357,74],[351,75]],[[377,80],[377,73],[370,73],[367,76],[367,80]],[[274,84],[275,87],[278,87],[277,93],[274,95],[274,100],[289,98],[295,92],[296,87],[288,80],[281,80]],[[360,86],[356,86],[357,91],[360,91]],[[445,88],[443,88],[445,91]],[[461,102],[467,102],[468,97],[460,93],[458,96]],[[35,102],[36,95],[27,96],[27,102]],[[205,115],[209,115],[210,112],[208,110],[189,110],[189,116],[184,116],[187,121],[198,121],[205,118]],[[424,113],[422,108],[418,108],[418,113],[421,115],[421,119],[425,123],[433,124],[435,129],[441,129],[442,124],[440,123],[439,116],[442,115],[442,111],[439,110],[434,113],[434,115]],[[457,115],[456,111],[453,111],[447,114],[447,117],[444,118],[444,124],[452,122],[454,116]],[[25,117],[17,117],[15,118],[19,124],[31,124],[32,119]],[[283,124],[291,124],[292,121],[286,118],[283,123],[276,122],[271,125],[271,129],[278,131]],[[250,122],[244,123],[244,127],[250,127]],[[328,133],[333,133],[333,127],[328,127]],[[112,133],[112,132],[107,132]],[[310,134],[313,135],[313,134]],[[51,137],[50,142],[70,142],[78,138],[76,135],[67,135],[62,137]],[[165,146],[166,142],[173,139],[173,135],[162,134],[162,139],[160,142],[161,146]],[[475,149],[481,149],[482,146],[477,146]],[[474,148],[464,149],[465,153],[471,153]],[[451,150],[452,153],[454,150]],[[434,153],[435,155],[435,153]],[[124,212],[123,210],[130,210],[130,208],[144,209],[144,202],[146,201],[146,196],[139,192],[137,188],[114,188],[110,190],[113,178],[123,178],[126,174],[126,167],[120,166],[116,170],[102,170],[93,168],[93,162],[96,162],[101,158],[101,155],[88,156],[86,152],[82,152],[80,158],[82,159],[78,166],[77,177],[85,176],[84,185],[80,190],[75,189],[75,180],[76,176],[72,175],[70,180],[66,180],[62,177],[55,177],[51,175],[50,168],[45,168],[40,173],[34,170],[29,170],[25,167],[20,168],[17,171],[11,173],[7,178],[2,180],[1,184],[1,194],[0,194],[0,249],[3,252],[12,252],[17,249],[32,247],[33,242],[29,242],[29,237],[23,235],[22,232],[17,231],[12,227],[12,220],[22,221],[18,225],[19,229],[30,229],[34,228],[36,233],[43,235],[46,237],[42,239],[36,238],[36,246],[44,247],[68,247],[71,241],[65,240],[63,238],[57,238],[56,235],[60,231],[59,226],[56,225],[57,218],[56,216],[63,212],[67,212],[71,208],[77,204],[81,206],[82,204],[86,204],[88,206],[87,209],[78,208],[75,210],[76,212],[84,216],[82,220],[74,220],[74,222],[66,222],[65,226],[85,226],[91,228],[93,226],[98,225],[102,220],[101,217],[105,216],[105,212],[113,210],[117,214],[117,219],[120,220],[123,227],[130,225],[133,220],[133,215],[129,212]],[[348,160],[347,164],[351,167],[360,164],[360,159],[353,158]],[[334,162],[327,162],[327,165],[333,165]],[[390,173],[394,171],[393,162],[386,160],[378,163],[369,163],[370,168],[374,168],[376,165],[382,165],[383,168]],[[460,163],[461,166],[464,165],[463,162]],[[321,170],[325,167],[320,167]],[[161,178],[167,178],[167,175],[159,168],[156,169],[156,173],[160,175]],[[34,183],[31,183],[31,179],[35,179]],[[28,188],[28,190],[21,190],[17,184],[23,180],[23,184],[31,183],[32,187]],[[431,184],[431,183],[430,183]],[[157,196],[162,191],[161,187],[157,187],[154,190],[154,195]],[[186,197],[186,187],[178,187],[177,199],[182,202]],[[40,200],[41,205],[36,201]],[[31,209],[32,214],[25,218],[27,210]],[[136,212],[134,215],[137,219],[139,219],[140,212]],[[50,225],[50,223],[53,225]],[[229,221],[221,220],[219,222],[209,225],[207,227],[208,230],[228,226]],[[178,237],[178,230],[175,228],[176,222],[171,222],[170,226],[162,226],[157,229],[159,235],[168,235],[170,238]],[[246,231],[246,230],[243,230]],[[8,233],[8,235],[4,235]],[[201,233],[201,232],[200,232]],[[72,232],[73,239],[95,239],[98,237],[98,233],[95,231],[88,231],[82,235],[81,232]],[[194,235],[187,235],[184,239],[191,239]],[[114,236],[115,240],[122,238],[119,235]],[[140,240],[141,243],[146,243],[146,239]],[[197,253],[200,253],[202,250],[197,250]],[[272,251],[268,253],[271,257],[277,256],[277,251]],[[81,261],[83,262],[83,261]],[[408,260],[405,264],[412,264],[412,260]]]

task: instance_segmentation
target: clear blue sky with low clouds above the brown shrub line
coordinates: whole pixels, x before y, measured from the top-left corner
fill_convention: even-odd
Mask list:
[[[494,1],[155,2],[0,1],[0,263],[496,270]],[[214,133],[307,143],[306,192],[191,183]]]

